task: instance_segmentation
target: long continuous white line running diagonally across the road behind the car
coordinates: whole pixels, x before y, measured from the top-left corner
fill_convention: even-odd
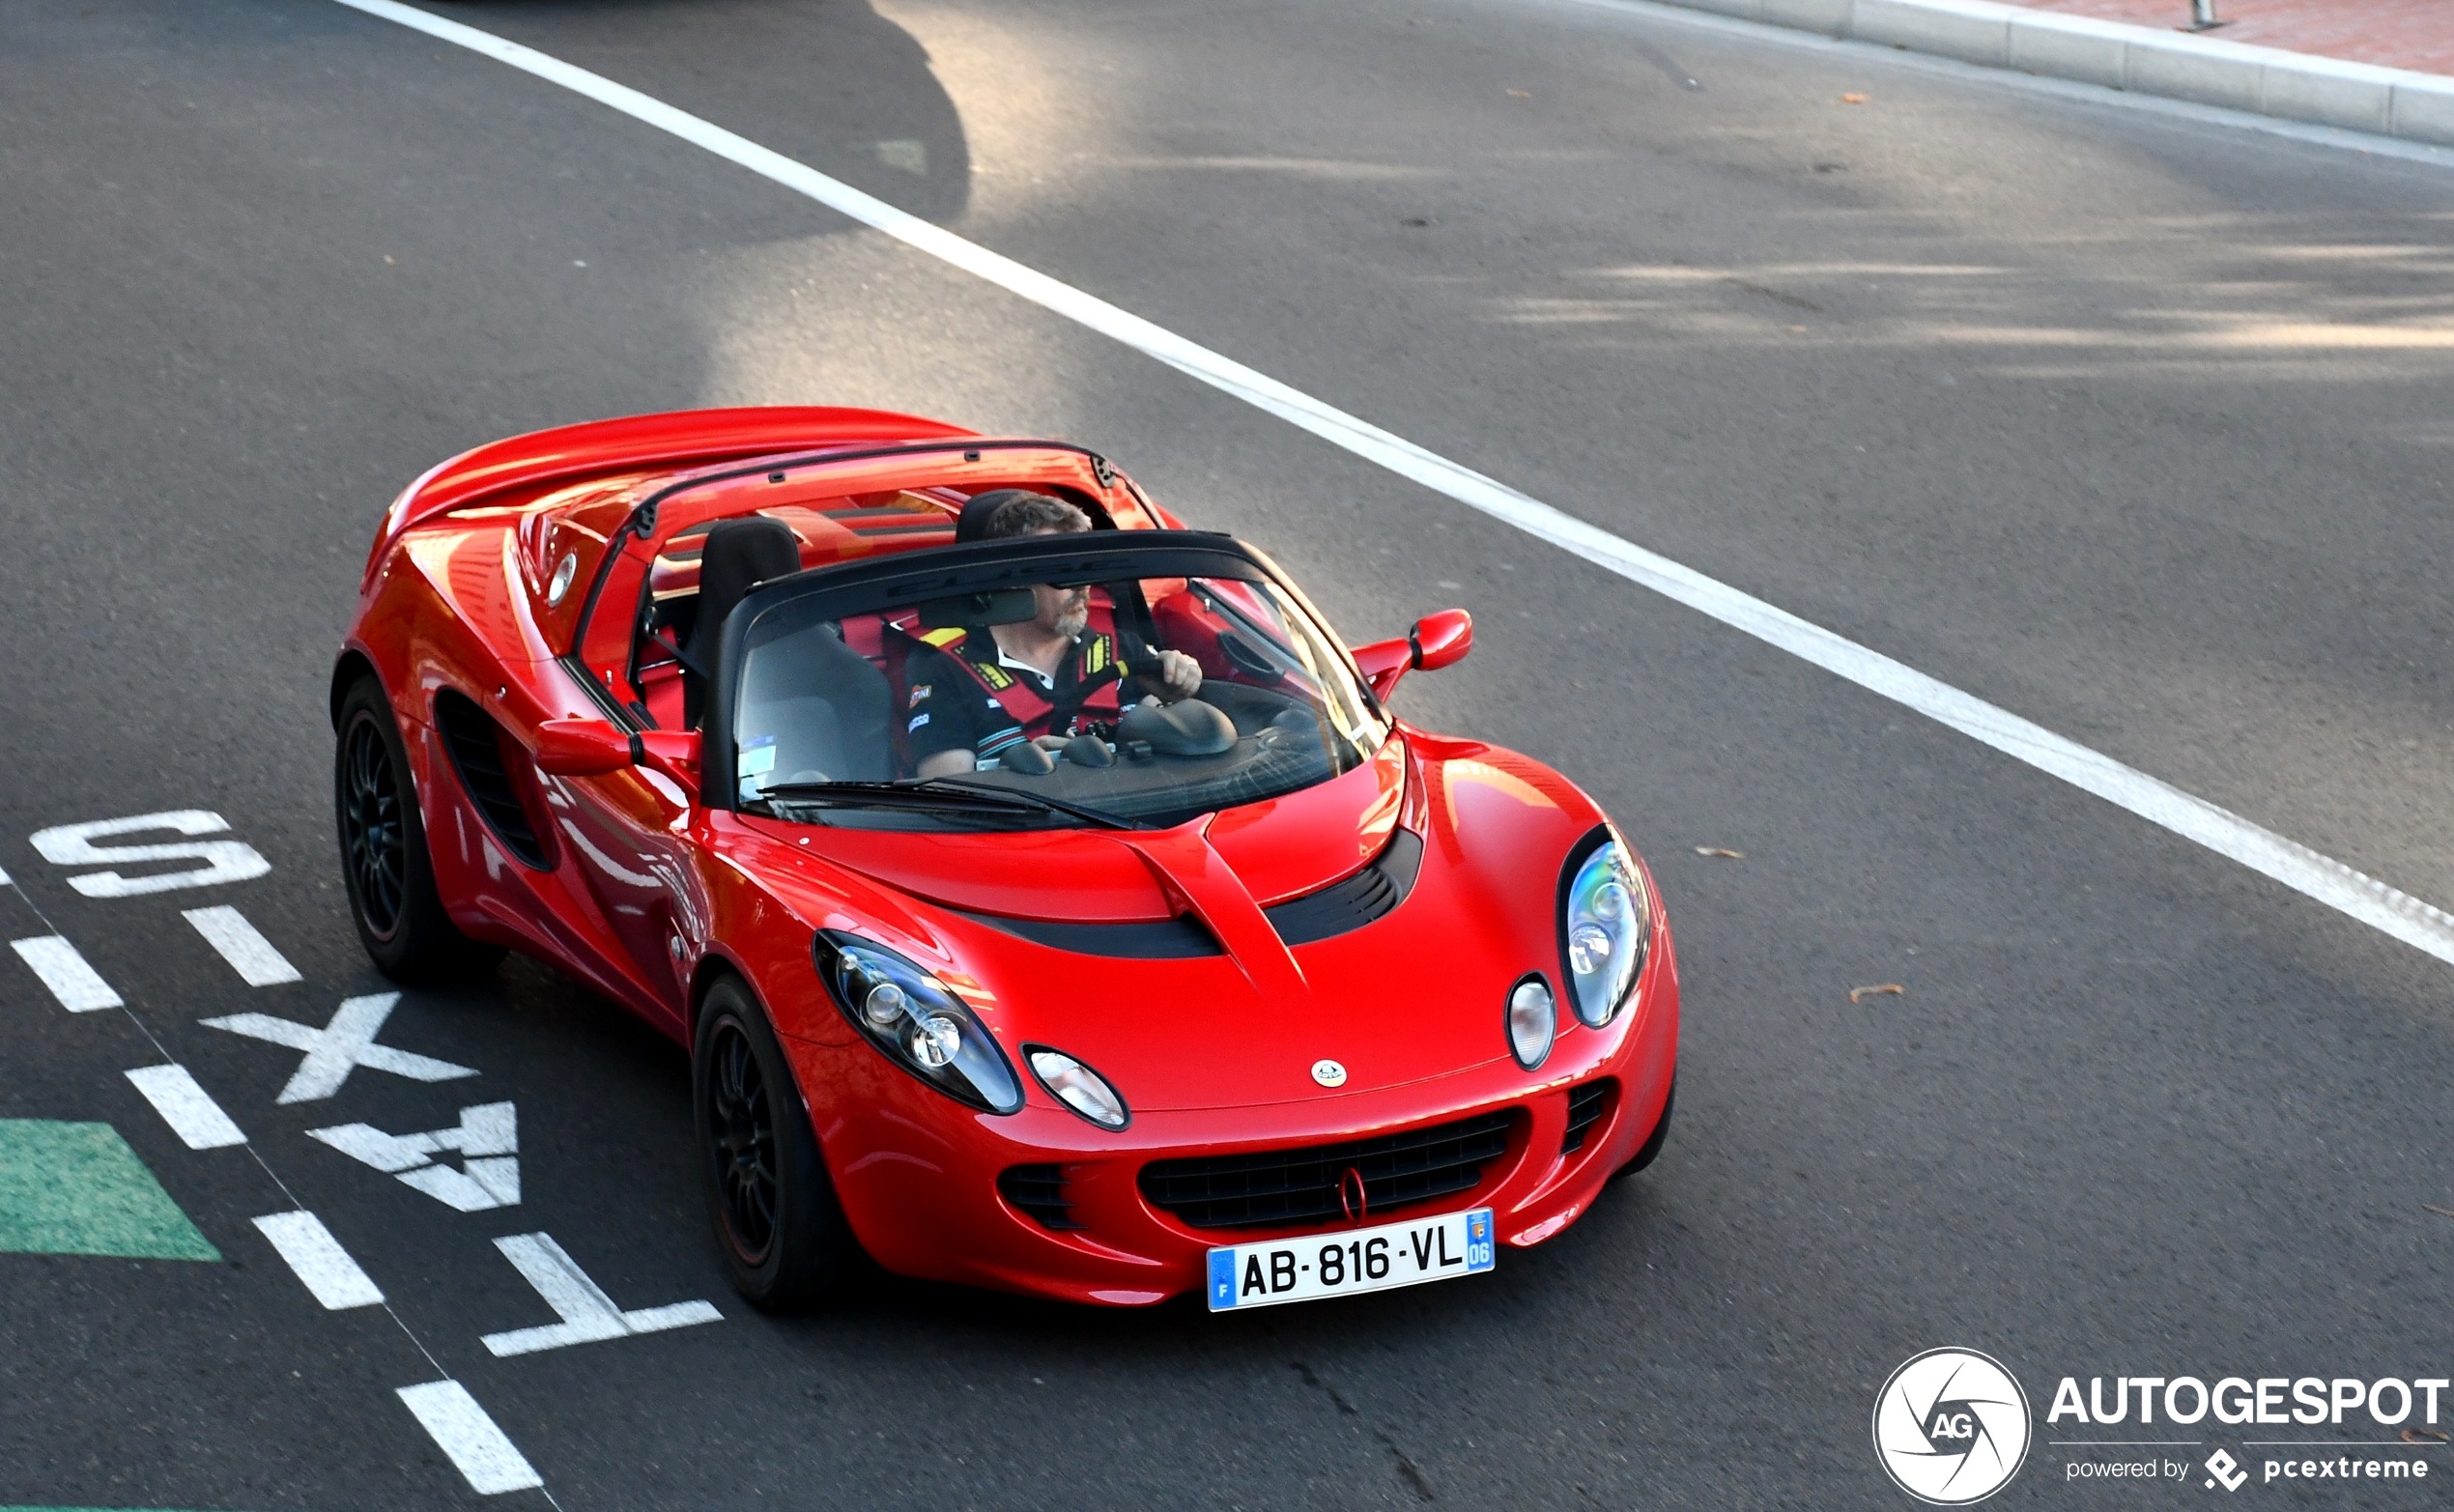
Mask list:
[[[2027,766],[2056,776],[2083,793],[2093,793],[2106,803],[2130,810],[2150,825],[2162,825],[2184,839],[2204,844],[2218,857],[2241,862],[2243,866],[2270,876],[2307,898],[2339,908],[2341,913],[2348,913],[2351,918],[2393,935],[2405,945],[2425,950],[2437,960],[2454,962],[2454,916],[2442,908],[2402,893],[2373,876],[2363,876],[2331,857],[2275,835],[2263,825],[2253,825],[2250,820],[2216,808],[2204,798],[2194,798],[2172,783],[2123,766],[2101,751],[2069,741],[2042,724],[2022,719],[2007,709],[1998,709],[1995,704],[1961,692],[1948,682],[1939,682],[1936,677],[1897,663],[1880,650],[1858,646],[1855,641],[1809,623],[1787,609],[1777,609],[1752,594],[1733,589],[1725,582],[1710,579],[1691,567],[1671,562],[1669,557],[1620,540],[1600,525],[1588,525],[1585,520],[1519,493],[1507,484],[1426,452],[1399,434],[1298,393],[1234,358],[1185,341],[1183,336],[1156,326],[1139,314],[1124,312],[1107,299],[1097,299],[1048,277],[1045,272],[1023,268],[1011,258],[969,243],[952,231],[923,221],[920,216],[898,211],[874,194],[864,194],[852,184],[829,179],[827,174],[761,147],[748,137],[729,133],[721,125],[699,120],[687,110],[675,110],[653,96],[614,83],[601,74],[589,74],[587,69],[564,64],[562,59],[542,54],[533,47],[520,47],[518,42],[508,42],[491,32],[479,32],[476,27],[449,22],[439,15],[427,15],[412,5],[400,5],[398,0],[336,2],[398,22],[415,32],[425,32],[427,37],[464,47],[481,56],[491,56],[501,64],[510,64],[523,74],[545,79],[547,83],[587,96],[606,108],[631,115],[633,120],[704,147],[726,162],[741,164],[753,174],[793,189],[795,194],[805,194],[874,231],[883,231],[913,250],[962,268],[964,272],[1040,304],[1043,309],[1112,336],[1190,378],[1217,388],[1220,393],[1234,395],[1256,410],[1308,430],[1333,447],[1342,447],[1364,461],[1384,466],[1404,479],[1433,488],[1436,493],[1445,493],[1448,498],[1514,525],[1526,535],[1575,552],[1598,567],[1676,599],[1679,604],[1718,619],[1730,628],[1779,646],[1782,650],[1799,655],[1826,673],[1917,709],[1919,714],[1983,741],[2015,761],[2025,761]]]

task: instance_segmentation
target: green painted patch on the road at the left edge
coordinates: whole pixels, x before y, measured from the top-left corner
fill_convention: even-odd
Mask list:
[[[221,1259],[110,1124],[0,1119],[0,1252]]]

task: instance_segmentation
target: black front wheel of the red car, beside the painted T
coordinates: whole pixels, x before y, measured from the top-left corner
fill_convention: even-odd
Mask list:
[[[707,1215],[734,1289],[768,1311],[805,1308],[844,1286],[859,1242],[827,1181],[793,1068],[748,989],[707,989],[690,1055]]]

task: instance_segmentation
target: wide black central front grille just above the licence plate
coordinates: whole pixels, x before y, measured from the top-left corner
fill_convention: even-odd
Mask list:
[[[1355,1171],[1379,1215],[1472,1190],[1482,1163],[1507,1154],[1514,1122],[1517,1112],[1502,1109],[1347,1144],[1151,1161],[1141,1195],[1193,1227],[1288,1227],[1345,1217],[1337,1183]]]

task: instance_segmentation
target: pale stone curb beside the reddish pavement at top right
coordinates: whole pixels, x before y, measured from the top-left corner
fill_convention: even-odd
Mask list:
[[[1990,0],[1669,0],[1988,69],[2454,145],[2454,79]]]

